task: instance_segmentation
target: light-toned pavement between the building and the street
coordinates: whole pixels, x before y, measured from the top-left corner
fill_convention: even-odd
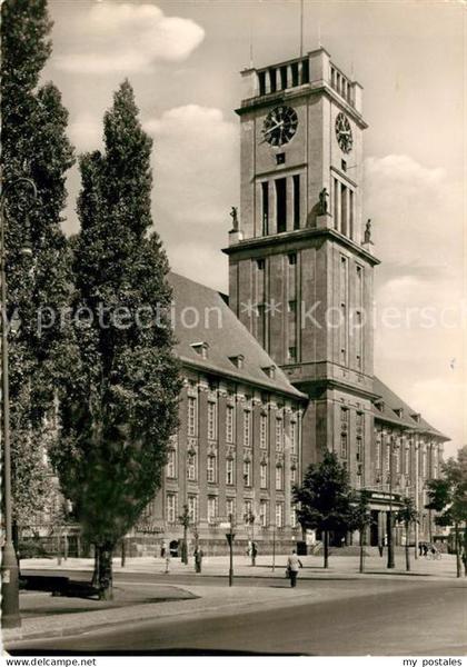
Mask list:
[[[252,567],[246,557],[235,560],[235,576],[249,577],[251,586],[228,587],[228,558],[211,557],[203,559],[201,575],[195,575],[192,563],[185,566],[178,559],[170,565],[167,581],[125,581],[119,577],[115,580],[115,600],[105,603],[82,598],[52,597],[47,593],[26,591],[20,595],[22,627],[2,630],[3,644],[8,647],[17,645],[22,639],[49,638],[76,635],[99,628],[118,626],[119,624],[143,621],[170,621],[179,616],[217,616],[229,615],[242,610],[264,609],[265,607],[281,607],[296,604],[318,604],[324,600],[345,599],[356,596],[387,590],[389,586],[400,585],[406,580],[401,569],[404,563],[396,560],[396,570],[387,570],[386,561],[379,557],[367,558],[368,574],[358,573],[358,558],[335,557],[330,559],[328,570],[322,568],[320,557],[304,557],[301,579],[329,580],[329,585],[319,589],[310,586],[291,589],[285,579],[286,556],[277,557],[276,569],[271,570],[271,558],[259,557],[257,566]],[[191,559],[192,560],[192,559]],[[382,560],[382,563],[380,563]],[[160,575],[165,570],[165,561],[160,558],[130,558],[121,568],[120,560],[115,559],[115,574],[150,573]],[[410,584],[429,579],[455,578],[455,561],[451,557],[436,561],[413,563],[413,571],[408,574]],[[91,571],[90,559],[68,559],[57,567],[56,560],[31,559],[21,563],[22,571],[61,569],[63,571]],[[386,574],[390,573],[390,574]],[[195,584],[178,584],[178,575],[192,575]],[[219,577],[219,585],[206,586],[203,577]],[[271,586],[255,585],[255,579],[269,577],[277,579]],[[355,581],[366,579],[366,585],[356,588]],[[332,581],[334,580],[334,581]],[[336,580],[338,586],[336,586]],[[408,583],[408,581],[407,581]],[[259,584],[259,581],[258,581]]]

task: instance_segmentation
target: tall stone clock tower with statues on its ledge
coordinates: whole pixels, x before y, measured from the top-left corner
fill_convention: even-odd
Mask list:
[[[230,307],[310,397],[302,465],[334,450],[362,487],[378,263],[361,219],[362,88],[322,48],[242,79],[240,215],[225,249]]]

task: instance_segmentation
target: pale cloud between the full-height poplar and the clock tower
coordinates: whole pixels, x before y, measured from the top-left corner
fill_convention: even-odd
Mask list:
[[[238,203],[237,127],[198,104],[169,109],[143,127],[155,139],[153,218],[169,259],[190,278],[226,289],[220,248]]]

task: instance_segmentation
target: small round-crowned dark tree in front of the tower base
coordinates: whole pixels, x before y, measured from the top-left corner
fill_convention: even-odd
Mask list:
[[[334,452],[326,451],[322,461],[311,464],[301,487],[294,490],[299,504],[297,518],[304,529],[324,534],[324,566],[328,567],[329,532],[351,525],[351,491],[348,472]]]

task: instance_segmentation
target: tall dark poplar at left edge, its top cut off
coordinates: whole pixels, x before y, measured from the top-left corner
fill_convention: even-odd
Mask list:
[[[1,19],[7,316],[18,325],[9,336],[13,520],[29,526],[51,492],[42,450],[49,437],[44,416],[53,404],[60,327],[57,317],[54,326],[41,329],[38,318],[46,308],[57,313],[69,297],[61,211],[73,153],[60,92],[52,83],[39,87],[51,53],[47,0],[6,0]],[[26,178],[33,181],[36,197]],[[22,251],[26,245],[28,255]]]

